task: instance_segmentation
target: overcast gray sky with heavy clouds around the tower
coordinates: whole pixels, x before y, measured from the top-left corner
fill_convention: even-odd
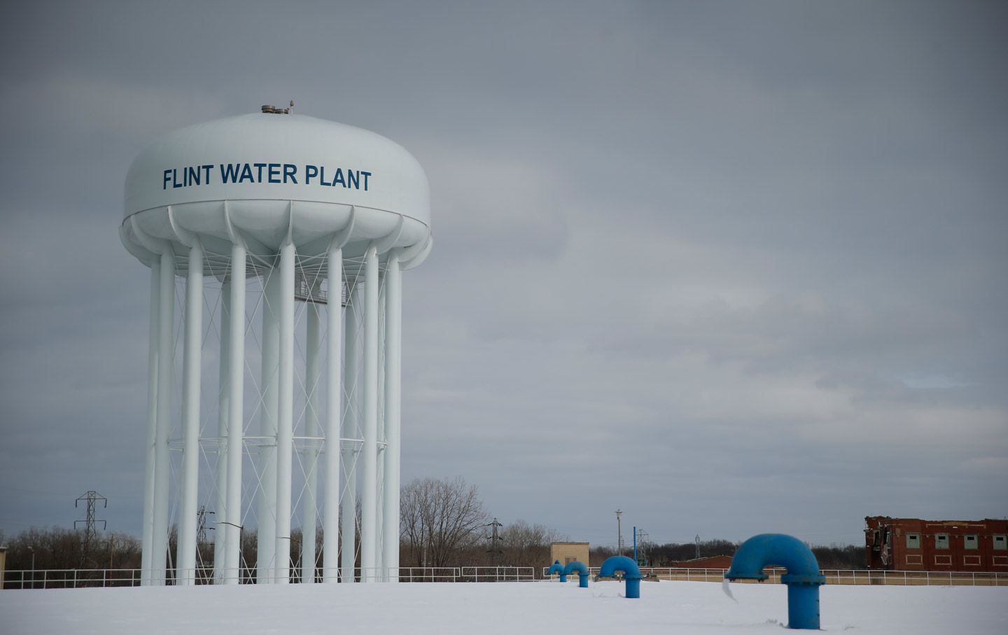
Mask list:
[[[575,540],[1008,515],[1008,9],[5,2],[0,530],[140,533],[136,154],[293,99],[406,147],[403,478]]]

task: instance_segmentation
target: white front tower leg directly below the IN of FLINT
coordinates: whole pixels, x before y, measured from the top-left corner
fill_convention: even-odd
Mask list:
[[[203,247],[190,248],[185,280],[185,335],[182,357],[182,483],[178,505],[176,584],[196,583],[196,530],[199,524],[200,380],[203,338]]]

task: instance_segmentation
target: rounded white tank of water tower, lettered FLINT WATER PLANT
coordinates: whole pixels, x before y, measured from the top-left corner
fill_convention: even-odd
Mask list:
[[[345,258],[373,240],[395,235],[390,247],[408,247],[430,234],[426,175],[409,152],[303,115],[241,115],[164,135],[130,166],[125,207],[130,229],[179,251],[192,232],[209,253],[230,253],[238,230],[250,248],[276,253],[289,237],[299,256],[323,256],[352,213]]]

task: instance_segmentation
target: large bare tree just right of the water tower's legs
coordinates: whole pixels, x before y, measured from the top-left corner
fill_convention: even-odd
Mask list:
[[[482,545],[489,514],[466,480],[413,479],[400,493],[400,536],[413,566],[453,566]]]

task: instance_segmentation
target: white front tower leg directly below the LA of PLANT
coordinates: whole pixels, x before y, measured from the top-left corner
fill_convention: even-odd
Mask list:
[[[341,372],[343,339],[343,250],[330,247],[327,263],[329,300],[326,304],[326,483],[323,495],[323,582],[339,581],[340,565],[340,411],[343,400]]]

